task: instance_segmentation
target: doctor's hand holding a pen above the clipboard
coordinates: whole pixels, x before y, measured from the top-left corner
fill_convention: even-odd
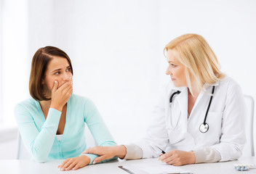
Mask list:
[[[166,162],[167,165],[188,165],[196,163],[196,156],[193,152],[185,152],[173,150],[159,157],[161,162]]]

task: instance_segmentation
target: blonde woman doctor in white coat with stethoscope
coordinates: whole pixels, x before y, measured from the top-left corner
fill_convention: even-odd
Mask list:
[[[87,149],[94,164],[121,159],[159,157],[169,165],[235,160],[245,144],[245,104],[241,88],[220,71],[203,37],[185,34],[164,48],[170,81],[153,111],[153,122],[141,141]],[[164,153],[166,152],[166,153]]]

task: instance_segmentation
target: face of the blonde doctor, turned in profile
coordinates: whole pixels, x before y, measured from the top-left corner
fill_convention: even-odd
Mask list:
[[[188,86],[185,79],[185,66],[180,63],[172,49],[167,51],[167,75],[170,75],[172,82],[176,87]]]

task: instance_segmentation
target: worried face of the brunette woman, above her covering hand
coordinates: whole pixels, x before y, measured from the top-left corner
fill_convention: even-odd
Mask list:
[[[63,57],[53,57],[47,66],[42,84],[44,85],[44,93],[47,97],[52,95],[54,81],[58,82],[57,88],[60,88],[65,82],[72,80],[71,65],[68,60]]]

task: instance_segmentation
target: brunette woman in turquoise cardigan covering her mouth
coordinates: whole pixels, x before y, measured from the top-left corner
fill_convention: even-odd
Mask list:
[[[15,107],[20,135],[33,159],[66,159],[59,166],[61,170],[76,170],[92,164],[97,157],[81,155],[87,148],[84,123],[97,145],[116,145],[92,101],[72,94],[72,76],[71,59],[64,51],[53,46],[39,49],[31,65],[32,99]]]

